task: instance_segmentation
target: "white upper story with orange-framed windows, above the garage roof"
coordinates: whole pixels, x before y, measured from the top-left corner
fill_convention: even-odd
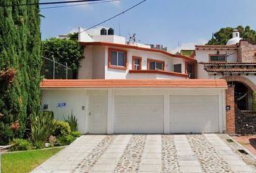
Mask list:
[[[79,79],[187,79],[195,78],[195,58],[174,55],[141,43],[127,43],[118,35],[87,35],[80,45],[85,58]]]

